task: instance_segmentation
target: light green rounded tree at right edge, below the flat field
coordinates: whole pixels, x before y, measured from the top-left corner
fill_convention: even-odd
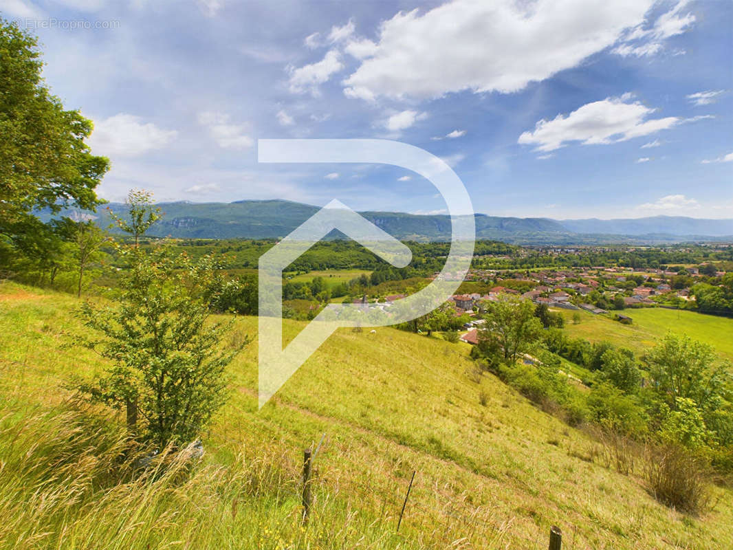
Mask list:
[[[648,359],[657,392],[672,410],[678,397],[692,399],[702,409],[715,406],[729,379],[712,347],[688,336],[668,333]]]

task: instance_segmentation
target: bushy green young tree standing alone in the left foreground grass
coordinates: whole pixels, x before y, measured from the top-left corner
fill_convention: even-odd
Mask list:
[[[78,389],[92,400],[125,404],[132,436],[161,448],[185,444],[224,403],[224,369],[248,339],[223,351],[221,339],[231,323],[207,321],[216,267],[212,257],[194,263],[183,254],[169,254],[165,246],[148,254],[130,248],[125,254],[132,256],[132,265],[114,304],[86,302],[82,309],[86,326],[100,335],[86,344],[111,366]]]

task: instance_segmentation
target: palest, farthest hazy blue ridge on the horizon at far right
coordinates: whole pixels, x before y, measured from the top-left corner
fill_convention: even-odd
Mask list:
[[[684,216],[654,216],[638,219],[569,219],[560,220],[575,233],[615,233],[616,235],[733,235],[733,219],[696,219]]]

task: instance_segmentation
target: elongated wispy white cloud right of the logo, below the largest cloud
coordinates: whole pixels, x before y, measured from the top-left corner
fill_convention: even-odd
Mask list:
[[[519,136],[518,143],[537,144],[536,150],[547,152],[564,147],[567,142],[583,145],[624,142],[682,122],[678,117],[648,119],[654,111],[638,101],[625,103],[622,98],[605,98],[586,103],[570,114],[558,114],[553,120],[539,120],[534,131]]]

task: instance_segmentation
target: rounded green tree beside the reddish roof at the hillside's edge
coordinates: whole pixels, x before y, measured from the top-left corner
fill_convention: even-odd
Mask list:
[[[487,326],[479,331],[479,348],[487,352],[498,349],[507,364],[527,353],[542,334],[542,323],[534,316],[529,300],[500,295],[498,301],[485,302],[485,308]]]

